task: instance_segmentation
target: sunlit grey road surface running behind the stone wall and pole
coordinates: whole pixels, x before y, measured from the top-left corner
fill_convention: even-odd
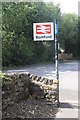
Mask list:
[[[38,76],[55,79],[55,64],[25,66],[4,72],[30,72]],[[73,116],[78,116],[78,61],[71,60],[59,63],[59,99],[61,103],[60,110],[62,110],[64,114],[64,108],[69,109],[72,105],[76,111],[72,111]],[[58,115],[58,117],[60,117],[60,115]]]

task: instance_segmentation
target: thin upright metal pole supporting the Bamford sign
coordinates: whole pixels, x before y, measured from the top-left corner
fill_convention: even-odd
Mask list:
[[[58,69],[58,21],[55,20],[55,69],[56,79],[59,80],[59,69]]]

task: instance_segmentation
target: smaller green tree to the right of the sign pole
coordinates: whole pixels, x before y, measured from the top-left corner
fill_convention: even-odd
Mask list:
[[[60,26],[60,43],[66,53],[77,56],[78,18],[75,14],[64,14]],[[75,47],[75,49],[74,49]]]

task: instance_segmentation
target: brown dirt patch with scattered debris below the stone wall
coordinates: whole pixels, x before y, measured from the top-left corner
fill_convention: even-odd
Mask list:
[[[2,120],[5,118],[54,118],[57,112],[55,105],[47,104],[44,100],[27,99],[9,106],[2,112]]]

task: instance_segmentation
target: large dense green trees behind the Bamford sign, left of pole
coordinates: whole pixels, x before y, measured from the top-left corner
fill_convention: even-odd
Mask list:
[[[25,65],[53,60],[54,42],[34,42],[33,23],[60,18],[53,3],[3,3],[3,65]]]

